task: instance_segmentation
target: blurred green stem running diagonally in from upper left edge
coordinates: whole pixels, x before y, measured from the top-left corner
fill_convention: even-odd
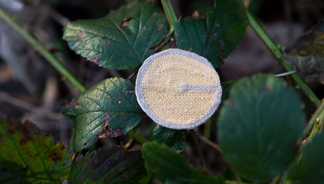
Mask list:
[[[21,36],[30,46],[39,52],[64,78],[66,78],[75,88],[83,92],[86,87],[80,83],[70,71],[49,52],[44,44],[25,29],[17,20],[8,15],[5,10],[0,7],[0,18],[8,24],[19,36]]]

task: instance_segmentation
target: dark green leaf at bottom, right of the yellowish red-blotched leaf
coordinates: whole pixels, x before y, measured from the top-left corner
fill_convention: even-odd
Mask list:
[[[139,183],[146,171],[141,151],[126,151],[123,146],[101,147],[81,156],[71,168],[68,183]]]

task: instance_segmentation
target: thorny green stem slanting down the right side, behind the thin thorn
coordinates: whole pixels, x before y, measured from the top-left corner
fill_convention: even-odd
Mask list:
[[[246,8],[247,17],[249,19],[249,24],[252,27],[252,29],[257,33],[257,35],[260,37],[260,39],[263,41],[263,43],[267,46],[267,48],[272,52],[272,54],[277,58],[279,64],[283,66],[283,68],[289,72],[294,71],[295,69],[291,66],[290,63],[286,59],[284,59],[284,52],[281,50],[281,48],[272,40],[272,38],[268,35],[266,30],[260,25],[258,20],[253,17],[251,12]],[[295,83],[301,88],[301,90],[306,94],[306,96],[314,102],[316,107],[319,107],[320,101],[317,98],[317,96],[314,94],[314,92],[309,88],[307,83],[304,79],[302,79],[298,74],[292,74],[290,75],[291,78],[295,81]]]

